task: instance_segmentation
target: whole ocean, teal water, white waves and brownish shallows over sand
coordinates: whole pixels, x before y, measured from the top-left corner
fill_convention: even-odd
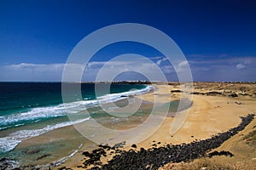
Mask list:
[[[73,93],[74,87],[78,86],[81,87],[80,94]],[[69,87],[66,90],[70,92],[65,95],[70,95],[70,99],[63,103],[61,82],[0,82],[0,168],[1,163],[8,161],[10,169],[30,169],[31,166],[47,169],[49,165],[61,164],[79,150],[95,149],[97,144],[84,138],[75,125],[85,125],[84,130],[91,132],[92,138],[97,136],[104,141],[107,139],[109,144],[117,144],[118,136],[112,138],[112,134],[97,131],[98,127],[90,126],[90,123],[96,121],[109,129],[128,130],[145,122],[154,108],[154,103],[143,100],[138,110],[133,112],[130,111],[133,104],[128,102],[131,99],[137,103],[138,98],[132,96],[154,91],[152,85],[66,83],[65,87]],[[158,114],[161,115],[168,107],[168,112],[175,115],[180,101],[157,103]],[[185,103],[181,110],[191,105],[189,100]],[[115,110],[126,105],[130,105],[130,109],[121,113],[125,117],[109,115],[103,109]],[[150,128],[155,127],[152,125],[147,130]]]

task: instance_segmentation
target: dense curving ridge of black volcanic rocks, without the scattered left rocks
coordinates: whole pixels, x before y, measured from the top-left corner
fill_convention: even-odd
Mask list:
[[[166,144],[159,148],[145,150],[122,150],[119,155],[113,156],[108,164],[95,169],[158,169],[168,162],[192,161],[202,156],[207,156],[207,152],[223,144],[239,131],[243,130],[253,121],[253,114],[241,117],[241,123],[229,131],[218,133],[211,139],[195,140],[190,144]],[[233,156],[229,151],[212,152],[208,156],[224,155]]]

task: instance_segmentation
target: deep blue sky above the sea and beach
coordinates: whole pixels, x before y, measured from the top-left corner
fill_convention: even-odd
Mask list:
[[[253,0],[0,0],[0,78],[60,81],[60,72],[53,72],[55,77],[41,72],[38,78],[34,67],[63,64],[90,32],[131,22],[154,26],[172,37],[189,60],[195,81],[256,81],[255,8]],[[158,55],[143,46],[133,46],[117,45],[99,53],[96,60],[106,61],[112,54],[126,52]],[[17,76],[22,71],[14,73],[12,66],[20,64],[26,68],[32,65],[33,73]],[[230,77],[229,71],[234,73],[230,69],[242,73]]]

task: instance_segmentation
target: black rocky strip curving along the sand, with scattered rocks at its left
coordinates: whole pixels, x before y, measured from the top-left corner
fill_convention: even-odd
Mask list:
[[[137,145],[132,144],[131,150],[119,150],[119,147],[110,147],[108,145],[100,145],[99,149],[91,152],[84,151],[85,161],[81,168],[90,169],[158,169],[169,162],[193,161],[196,158],[203,156],[233,156],[230,151],[211,152],[210,150],[218,148],[225,140],[230,139],[239,131],[243,130],[250,122],[253,121],[253,114],[241,117],[241,123],[237,127],[233,127],[224,133],[218,133],[210,139],[197,140],[189,144],[164,144],[163,146],[154,147],[145,150],[140,148],[137,150]],[[115,156],[103,164],[102,156],[106,156],[109,152]],[[61,169],[67,169],[61,167]]]

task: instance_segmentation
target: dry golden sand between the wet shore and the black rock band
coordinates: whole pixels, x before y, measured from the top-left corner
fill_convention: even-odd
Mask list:
[[[219,87],[219,84],[216,83],[216,87]],[[227,83],[229,84],[229,83]],[[242,85],[242,84],[241,84]],[[200,86],[200,85],[197,85]],[[252,84],[253,86],[253,84]],[[218,133],[222,133],[228,131],[232,127],[238,126],[241,122],[240,116],[246,116],[249,113],[255,113],[256,108],[253,105],[255,102],[255,98],[253,98],[253,94],[250,97],[248,95],[239,95],[238,97],[232,97],[230,94],[241,94],[237,91],[230,90],[230,94],[206,94],[212,91],[216,91],[216,87],[210,87],[210,89],[198,88],[194,87],[193,93],[193,105],[189,108],[189,116],[183,124],[183,127],[179,129],[177,133],[174,135],[169,134],[170,124],[172,124],[173,117],[166,117],[165,122],[162,126],[148,139],[145,139],[143,142],[137,144],[137,148],[149,149],[154,144],[153,141],[160,142],[157,144],[160,147],[163,144],[182,144],[182,143],[191,143],[195,141],[195,139],[209,139],[212,135],[216,135]],[[169,89],[177,89],[178,85],[169,85]],[[157,94],[165,96],[165,99],[178,99],[180,96],[179,92],[171,92],[169,89],[162,89],[160,86],[158,89],[162,90],[158,91]],[[169,91],[168,91],[169,90]],[[228,91],[229,89],[222,89],[218,91]],[[254,89],[253,89],[254,90]],[[231,92],[232,91],[232,92]],[[169,93],[170,92],[170,93]],[[197,93],[201,94],[197,94]],[[250,92],[252,93],[252,92]],[[169,97],[168,94],[170,94]],[[189,92],[187,92],[189,94]],[[143,94],[140,97],[142,99],[152,99],[154,94]],[[230,95],[230,96],[229,96]],[[151,96],[151,97],[150,97]],[[151,100],[152,101],[152,100]],[[231,109],[232,108],[232,109]],[[183,111],[181,111],[182,113]],[[255,123],[253,121],[253,123]],[[235,137],[233,137],[235,138]],[[221,146],[222,147],[222,146]],[[130,146],[125,146],[123,150],[130,150]],[[251,150],[251,156],[247,157],[247,160],[253,159],[253,150]],[[253,152],[255,154],[255,151]],[[241,155],[247,155],[246,153],[241,153]],[[235,155],[235,160],[241,159],[241,157]],[[83,165],[84,161],[81,161],[83,156],[74,156],[67,162],[65,162],[62,166],[64,167],[73,167],[73,169],[79,169],[79,165]],[[111,158],[102,158],[102,162],[107,162]],[[80,160],[80,161],[74,161]]]

